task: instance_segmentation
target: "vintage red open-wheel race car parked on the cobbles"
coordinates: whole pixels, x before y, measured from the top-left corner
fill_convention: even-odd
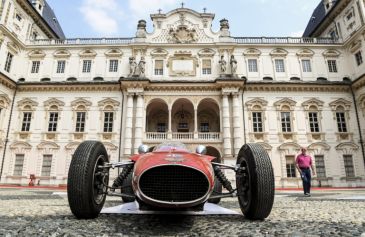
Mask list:
[[[205,146],[195,153],[184,144],[165,142],[150,151],[146,145],[129,162],[110,163],[104,145],[85,141],[76,149],[68,173],[68,201],[77,218],[99,215],[106,196],[137,201],[142,210],[200,211],[206,202],[238,197],[246,218],[262,220],[274,202],[274,174],[267,152],[259,144],[242,146],[235,166],[205,155]],[[122,168],[109,185],[109,171]],[[223,170],[236,173],[236,188]],[[225,192],[222,191],[222,186]]]

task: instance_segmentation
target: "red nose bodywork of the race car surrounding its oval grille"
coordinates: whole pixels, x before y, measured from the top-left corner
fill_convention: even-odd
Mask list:
[[[178,147],[164,147],[162,149],[157,149],[153,152],[134,155],[130,158],[135,162],[132,185],[135,195],[143,202],[148,203],[157,207],[164,208],[178,208],[178,207],[191,207],[204,203],[209,198],[214,187],[214,170],[211,161],[215,157],[201,155],[197,153],[191,153],[186,149]],[[201,200],[194,203],[160,203],[153,200],[149,200],[140,191],[138,183],[140,176],[147,170],[158,167],[158,166],[185,166],[202,172],[207,180],[209,181],[210,188],[207,195],[205,195]],[[176,185],[179,185],[178,183]]]

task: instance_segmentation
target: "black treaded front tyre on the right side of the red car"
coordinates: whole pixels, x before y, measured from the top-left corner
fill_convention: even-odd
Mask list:
[[[236,173],[238,202],[242,213],[251,220],[269,216],[275,194],[271,160],[259,144],[242,146],[237,164],[243,168]]]

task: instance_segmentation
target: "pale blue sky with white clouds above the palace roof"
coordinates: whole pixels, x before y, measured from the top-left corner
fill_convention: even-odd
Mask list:
[[[137,22],[151,13],[167,13],[184,7],[214,13],[229,20],[232,36],[300,37],[320,0],[47,0],[55,11],[66,38],[134,37]]]

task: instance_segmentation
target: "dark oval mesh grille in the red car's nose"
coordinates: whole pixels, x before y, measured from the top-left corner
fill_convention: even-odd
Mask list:
[[[166,165],[145,171],[139,179],[141,192],[163,202],[190,202],[204,197],[209,190],[207,177],[186,166]]]

